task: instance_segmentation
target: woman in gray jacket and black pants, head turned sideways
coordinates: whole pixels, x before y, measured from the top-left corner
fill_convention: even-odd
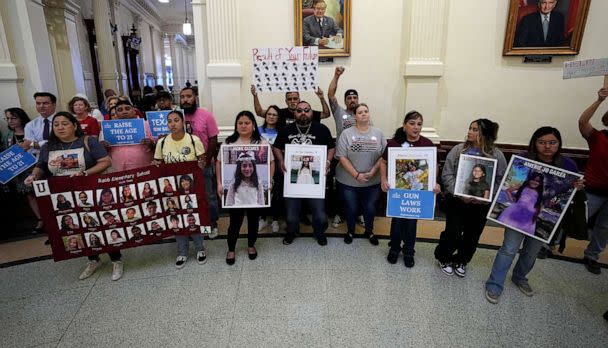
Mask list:
[[[454,196],[456,172],[460,155],[473,155],[497,160],[495,187],[507,168],[503,153],[494,145],[498,135],[498,124],[486,118],[477,119],[469,125],[464,143],[452,148],[447,155],[441,179],[447,191],[445,230],[441,232],[435,248],[439,268],[446,275],[466,275],[466,265],[471,261],[479,237],[486,225],[489,203],[470,197]]]

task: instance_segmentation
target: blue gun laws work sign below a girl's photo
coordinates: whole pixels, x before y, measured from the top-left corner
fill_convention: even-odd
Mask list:
[[[435,216],[435,194],[433,191],[389,189],[386,216],[432,220]]]

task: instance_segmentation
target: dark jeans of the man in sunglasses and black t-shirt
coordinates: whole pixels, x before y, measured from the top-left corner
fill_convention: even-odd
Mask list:
[[[287,198],[285,207],[287,209],[287,235],[295,237],[300,232],[300,208],[302,201],[308,203],[312,212],[312,229],[315,237],[325,236],[327,230],[327,215],[325,215],[325,200],[316,198]]]

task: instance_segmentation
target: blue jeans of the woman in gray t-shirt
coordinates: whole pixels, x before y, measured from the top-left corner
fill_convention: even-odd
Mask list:
[[[359,207],[363,209],[365,233],[372,233],[374,230],[374,218],[376,216],[376,201],[380,197],[380,185],[356,187],[341,183],[339,187],[344,200],[344,214],[346,215],[348,233],[355,234]]]

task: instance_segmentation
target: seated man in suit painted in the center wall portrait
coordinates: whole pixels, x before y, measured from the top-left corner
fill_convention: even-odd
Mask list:
[[[327,4],[317,1],[313,7],[314,15],[304,18],[304,45],[325,46],[332,36],[342,37],[344,31],[331,18],[325,16]]]

